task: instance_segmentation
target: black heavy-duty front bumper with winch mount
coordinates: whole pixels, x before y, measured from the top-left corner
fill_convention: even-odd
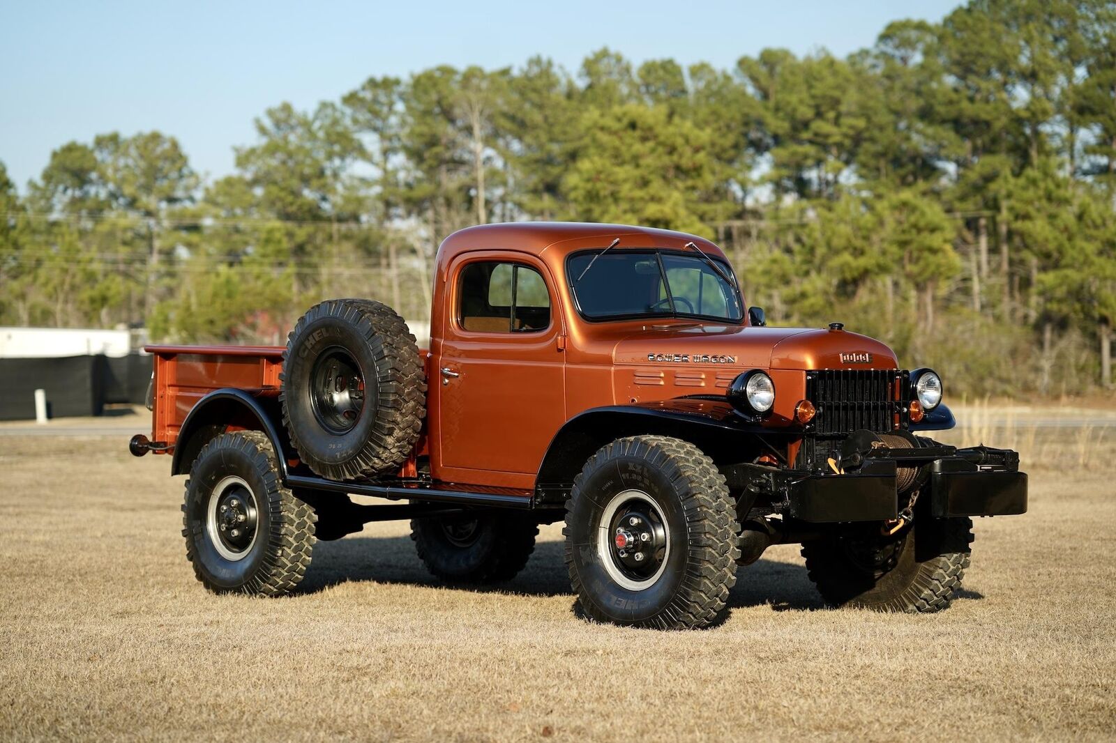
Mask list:
[[[998,456],[989,457],[989,452]],[[1008,456],[1002,456],[1007,454]],[[988,460],[994,463],[987,463]],[[1007,450],[931,450],[881,452],[855,472],[773,471],[743,465],[730,476],[742,489],[767,491],[791,519],[810,523],[885,521],[906,508],[910,492],[899,493],[896,472],[918,467],[918,502],[929,502],[935,518],[1016,515],[1027,512],[1027,473],[1012,465]]]

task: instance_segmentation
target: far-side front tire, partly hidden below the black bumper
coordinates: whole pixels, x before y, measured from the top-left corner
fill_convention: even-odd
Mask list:
[[[961,589],[972,527],[971,519],[916,518],[898,535],[902,543],[889,544],[897,557],[884,575],[850,557],[847,535],[807,542],[802,557],[810,580],[830,606],[929,614],[947,608]],[[888,538],[878,539],[878,544],[888,544]]]

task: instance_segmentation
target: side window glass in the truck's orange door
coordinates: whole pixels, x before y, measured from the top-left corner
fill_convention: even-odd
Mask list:
[[[535,269],[484,261],[461,270],[461,327],[478,332],[531,332],[550,326],[550,295]]]

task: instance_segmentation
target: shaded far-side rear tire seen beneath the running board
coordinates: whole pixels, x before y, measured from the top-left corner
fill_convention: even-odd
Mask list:
[[[459,523],[462,521],[459,519]],[[464,522],[468,523],[468,522]],[[479,514],[466,540],[451,540],[440,517],[411,520],[411,539],[432,576],[448,583],[488,585],[514,578],[535,551],[539,525],[517,513]]]

